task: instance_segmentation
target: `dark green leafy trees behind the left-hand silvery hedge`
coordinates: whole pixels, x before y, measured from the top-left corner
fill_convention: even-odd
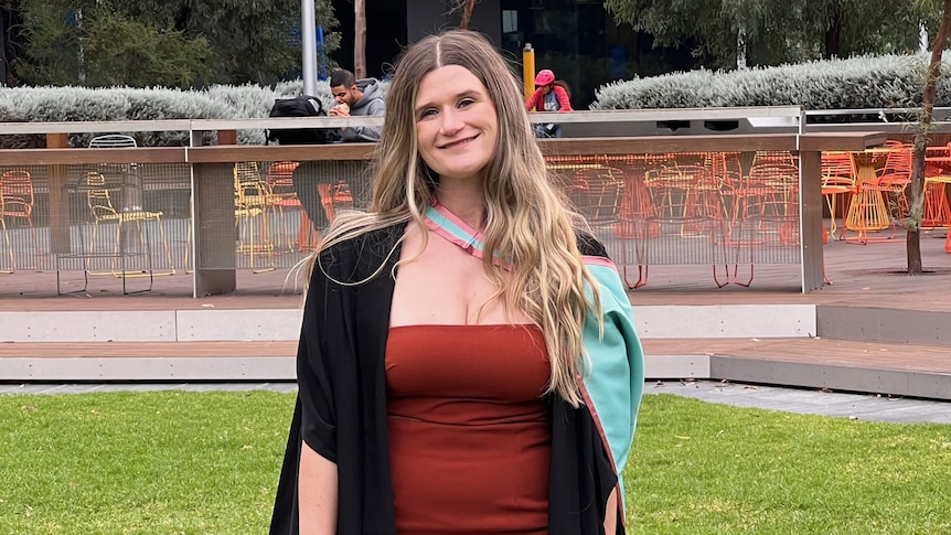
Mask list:
[[[203,86],[274,84],[300,75],[298,0],[21,0],[32,85]],[[340,35],[330,0],[317,23],[333,51]]]

